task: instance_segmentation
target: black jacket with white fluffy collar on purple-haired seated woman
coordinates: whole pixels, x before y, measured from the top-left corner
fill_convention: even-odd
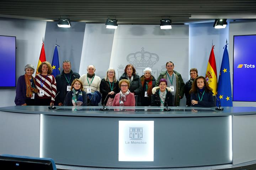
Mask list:
[[[158,90],[156,90],[158,89]],[[165,102],[167,102],[168,106],[172,106],[172,94],[170,92],[170,88],[166,87],[167,93],[165,97]],[[155,91],[156,90],[156,91]],[[152,90],[152,96],[151,96],[151,106],[160,106],[160,97],[159,97],[159,87],[154,87]],[[166,103],[164,104],[166,106]]]

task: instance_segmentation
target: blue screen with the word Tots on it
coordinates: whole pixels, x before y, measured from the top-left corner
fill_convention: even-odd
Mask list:
[[[256,101],[256,35],[234,36],[233,101]]]

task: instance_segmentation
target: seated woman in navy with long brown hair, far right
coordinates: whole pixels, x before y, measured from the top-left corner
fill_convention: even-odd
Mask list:
[[[213,107],[213,92],[203,76],[197,77],[190,90],[192,107]]]

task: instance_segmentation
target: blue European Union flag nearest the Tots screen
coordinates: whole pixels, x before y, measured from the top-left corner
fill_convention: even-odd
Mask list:
[[[220,67],[219,81],[217,87],[217,97],[220,101],[220,106],[232,107],[233,99],[231,92],[229,56],[227,47],[228,45],[225,45],[222,57],[222,65]],[[219,106],[218,101],[216,101],[216,106]]]

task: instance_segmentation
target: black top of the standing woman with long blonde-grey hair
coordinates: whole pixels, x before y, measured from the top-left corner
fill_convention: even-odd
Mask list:
[[[113,86],[114,94],[107,96],[107,94],[109,92],[111,92],[111,88],[110,88],[110,85],[109,85],[108,81],[106,81],[105,79],[102,79],[101,80],[101,84],[100,84],[100,92],[102,94],[101,104],[103,105],[103,102],[106,99],[105,100],[105,105],[106,105],[107,104],[107,100],[108,100],[109,97],[110,98],[114,98],[114,96],[116,96],[116,94],[120,92],[120,89],[119,89],[119,86],[118,86],[118,81],[116,83],[114,83],[114,86]]]

